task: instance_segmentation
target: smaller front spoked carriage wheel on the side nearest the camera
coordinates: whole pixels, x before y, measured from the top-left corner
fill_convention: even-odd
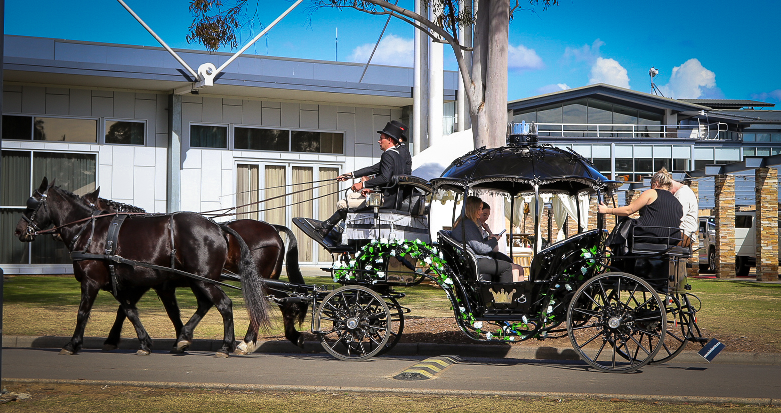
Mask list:
[[[391,311],[379,294],[362,286],[333,290],[323,299],[315,319],[320,344],[341,360],[372,358],[391,337]]]

